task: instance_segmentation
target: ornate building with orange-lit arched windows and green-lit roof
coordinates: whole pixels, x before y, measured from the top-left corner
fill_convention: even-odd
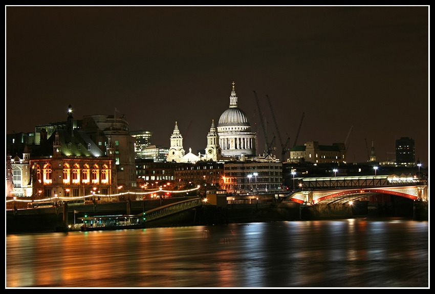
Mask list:
[[[33,146],[29,160],[33,193],[39,198],[115,194],[117,170],[114,148],[106,152],[80,129],[69,112],[66,127],[58,127],[47,140]]]

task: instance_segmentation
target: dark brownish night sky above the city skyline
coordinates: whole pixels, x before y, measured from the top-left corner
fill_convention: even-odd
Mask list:
[[[130,130],[204,149],[211,120],[238,105],[259,132],[253,91],[282,143],[347,139],[350,162],[393,159],[415,140],[429,163],[429,7],[21,7],[6,10],[6,133],[124,115]],[[256,127],[255,127],[256,124]],[[349,131],[352,131],[349,133]],[[349,134],[349,137],[348,137]]]

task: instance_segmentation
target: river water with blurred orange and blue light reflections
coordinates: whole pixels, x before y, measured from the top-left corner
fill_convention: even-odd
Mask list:
[[[6,236],[6,287],[430,288],[429,222],[282,221]]]

